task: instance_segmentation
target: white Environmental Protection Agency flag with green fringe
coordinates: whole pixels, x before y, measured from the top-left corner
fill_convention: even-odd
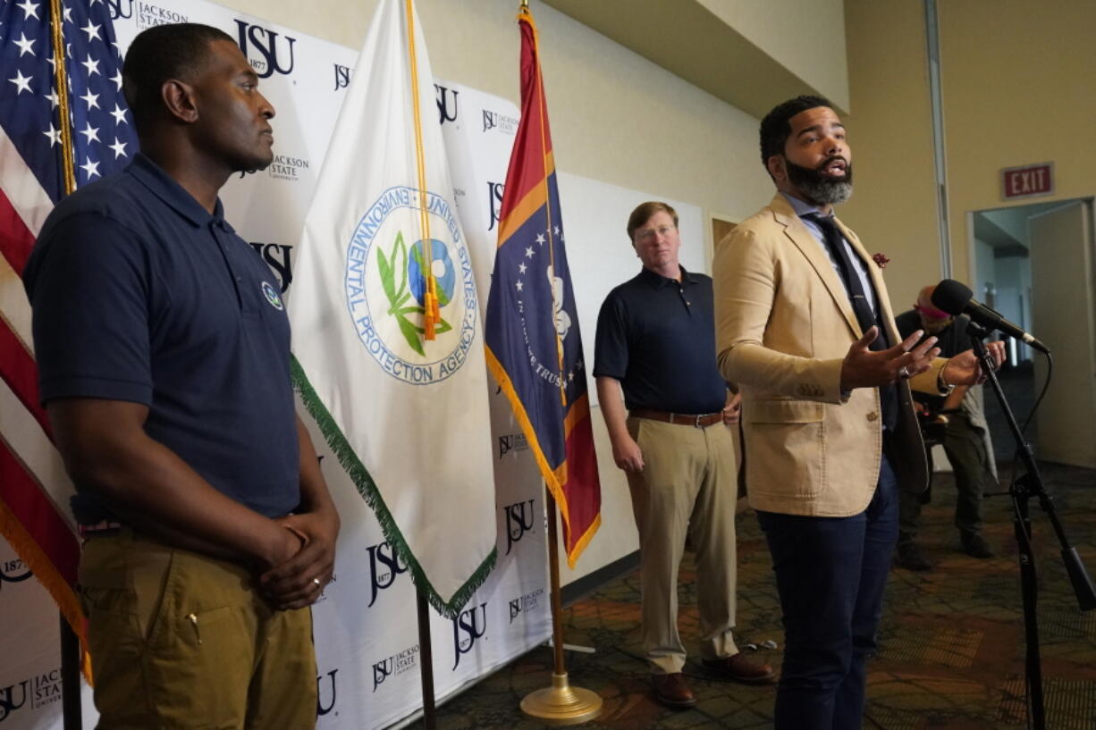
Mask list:
[[[369,25],[305,220],[289,319],[305,404],[416,586],[453,617],[495,558],[489,390],[410,5],[381,0]],[[427,269],[434,339],[424,331]]]

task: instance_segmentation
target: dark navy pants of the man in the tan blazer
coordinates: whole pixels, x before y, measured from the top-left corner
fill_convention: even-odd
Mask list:
[[[883,457],[867,510],[850,517],[757,512],[784,612],[775,730],[857,730],[898,539],[898,480]]]

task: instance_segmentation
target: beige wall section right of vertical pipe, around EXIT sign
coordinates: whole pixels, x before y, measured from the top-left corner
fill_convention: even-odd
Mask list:
[[[1092,0],[940,3],[956,278],[970,275],[968,212],[1096,194],[1094,27]],[[1002,168],[1048,160],[1054,196],[1002,201]]]

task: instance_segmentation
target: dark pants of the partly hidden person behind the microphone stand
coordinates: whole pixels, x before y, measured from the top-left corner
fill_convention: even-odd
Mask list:
[[[969,396],[968,396],[969,397]],[[952,413],[944,436],[944,450],[956,478],[956,527],[962,533],[982,529],[982,493],[996,489],[982,431],[962,413]],[[913,541],[921,528],[921,492],[901,494],[899,532]]]

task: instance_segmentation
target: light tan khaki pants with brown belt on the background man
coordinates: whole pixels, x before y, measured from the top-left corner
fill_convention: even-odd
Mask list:
[[[738,475],[734,442],[722,424],[696,429],[649,419],[628,419],[628,432],[643,453],[643,471],[628,474],[639,529],[642,637],[651,672],[671,674],[685,665],[677,634],[677,568],[688,533],[696,549],[700,655],[738,653],[734,626],[734,505]]]

